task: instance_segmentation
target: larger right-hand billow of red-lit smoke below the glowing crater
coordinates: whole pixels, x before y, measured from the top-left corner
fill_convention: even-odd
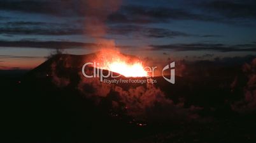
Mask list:
[[[167,121],[167,120],[192,120],[198,118],[193,113],[199,108],[185,109],[182,104],[174,104],[171,99],[167,99],[164,92],[153,84],[130,88],[115,87],[115,91],[120,96],[120,103],[125,104],[127,113],[137,120],[147,121]],[[194,111],[192,111],[194,110]]]

